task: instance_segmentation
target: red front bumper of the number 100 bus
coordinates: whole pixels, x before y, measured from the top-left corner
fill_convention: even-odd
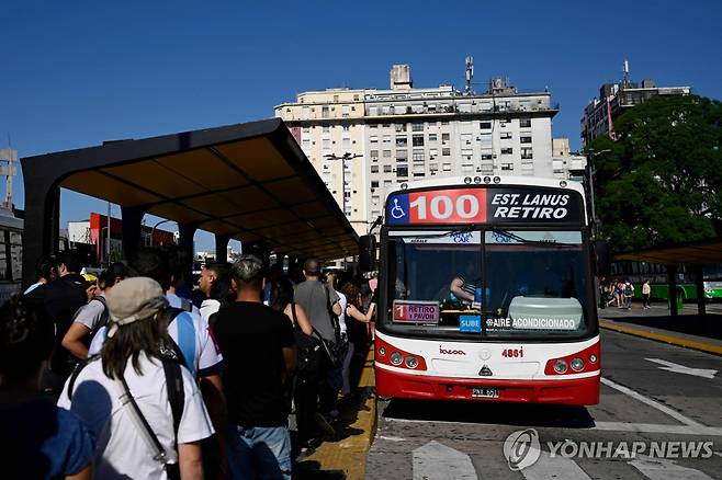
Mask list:
[[[407,375],[376,367],[375,377],[380,397],[567,405],[599,403],[599,375],[553,380],[500,380]],[[474,387],[496,388],[498,398],[473,398]]]

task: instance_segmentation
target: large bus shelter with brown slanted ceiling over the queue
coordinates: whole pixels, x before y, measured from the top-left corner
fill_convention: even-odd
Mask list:
[[[281,119],[266,119],[23,158],[23,284],[59,248],[60,187],[121,206],[123,255],[145,214],[174,220],[191,253],[196,230],[295,259],[356,255],[359,238]]]

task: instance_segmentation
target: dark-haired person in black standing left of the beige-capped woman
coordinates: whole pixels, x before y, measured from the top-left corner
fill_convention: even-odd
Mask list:
[[[58,254],[58,278],[41,285],[26,295],[30,302],[42,306],[47,319],[55,325],[55,347],[49,370],[44,372],[41,384],[47,393],[59,393],[77,359],[63,345],[63,338],[72,324],[80,307],[88,302],[88,282],[78,272],[82,268],[80,254],[65,250]]]

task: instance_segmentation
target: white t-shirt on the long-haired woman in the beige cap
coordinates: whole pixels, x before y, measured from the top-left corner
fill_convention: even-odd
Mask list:
[[[172,461],[178,460],[173,446],[173,415],[168,402],[166,375],[162,364],[139,356],[143,375],[136,374],[132,362],[125,368],[125,381],[143,416],[153,428]],[[183,376],[184,408],[178,427],[178,443],[198,442],[213,435],[211,419],[203,398],[191,374],[181,368]],[[97,438],[94,477],[102,479],[166,479],[162,465],[153,459],[136,424],[129,415],[129,405],[123,407],[119,397],[122,390],[103,374],[102,361],[90,362],[75,381],[72,399],[68,399],[68,384],[63,389],[58,407],[76,413]]]

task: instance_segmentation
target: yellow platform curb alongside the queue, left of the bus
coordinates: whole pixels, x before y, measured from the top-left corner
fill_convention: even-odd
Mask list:
[[[347,479],[363,479],[366,469],[366,454],[376,431],[376,396],[373,375],[373,345],[369,350],[359,380],[361,399],[349,413],[356,413],[356,421],[348,428],[351,434],[338,442],[325,442],[316,452],[304,459],[317,465],[316,473],[342,475]],[[342,415],[346,412],[342,413]],[[353,434],[353,432],[360,433]],[[320,477],[320,475],[319,475]],[[320,477],[324,478],[324,477]]]

